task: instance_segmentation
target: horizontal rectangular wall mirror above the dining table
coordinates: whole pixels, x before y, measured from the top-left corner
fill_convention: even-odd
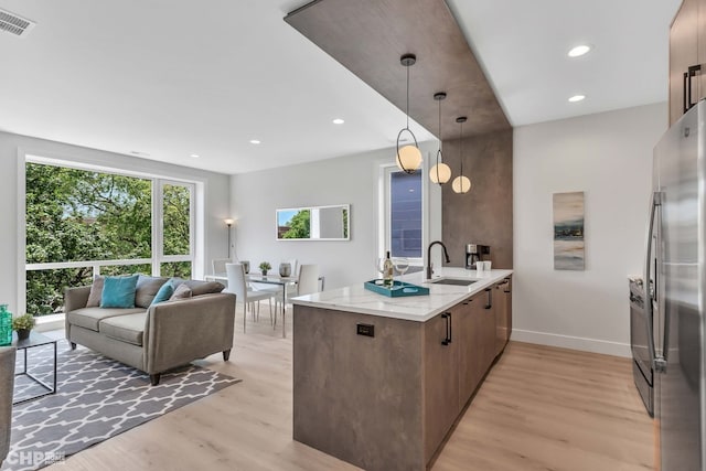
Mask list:
[[[277,210],[277,240],[350,240],[350,204]]]

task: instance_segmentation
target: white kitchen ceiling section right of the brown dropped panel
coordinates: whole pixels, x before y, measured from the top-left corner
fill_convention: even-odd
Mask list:
[[[667,99],[670,23],[682,0],[447,3],[513,126]],[[580,43],[593,50],[569,58]],[[579,94],[584,101],[568,103]]]

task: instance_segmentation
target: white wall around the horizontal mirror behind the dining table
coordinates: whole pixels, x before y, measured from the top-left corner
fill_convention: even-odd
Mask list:
[[[421,142],[425,168],[437,150],[436,141]],[[379,165],[394,163],[395,149],[329,159],[232,176],[234,245],[239,259],[257,270],[267,260],[276,271],[280,261],[297,258],[299,264],[318,264],[325,288],[363,282],[378,276],[377,192]],[[425,181],[428,182],[425,170]],[[441,200],[437,188],[427,185],[429,237],[439,238]],[[277,208],[351,205],[350,240],[276,240]],[[440,260],[437,260],[437,264]]]

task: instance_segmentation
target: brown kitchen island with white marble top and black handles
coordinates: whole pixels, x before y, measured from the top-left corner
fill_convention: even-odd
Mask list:
[[[429,296],[363,282],[297,298],[293,438],[363,469],[424,470],[510,338],[512,270],[441,268]],[[461,281],[462,282],[462,281]]]

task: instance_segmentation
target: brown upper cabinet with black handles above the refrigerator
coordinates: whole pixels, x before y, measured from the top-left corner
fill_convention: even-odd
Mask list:
[[[670,125],[706,96],[706,0],[684,0],[670,28]]]

